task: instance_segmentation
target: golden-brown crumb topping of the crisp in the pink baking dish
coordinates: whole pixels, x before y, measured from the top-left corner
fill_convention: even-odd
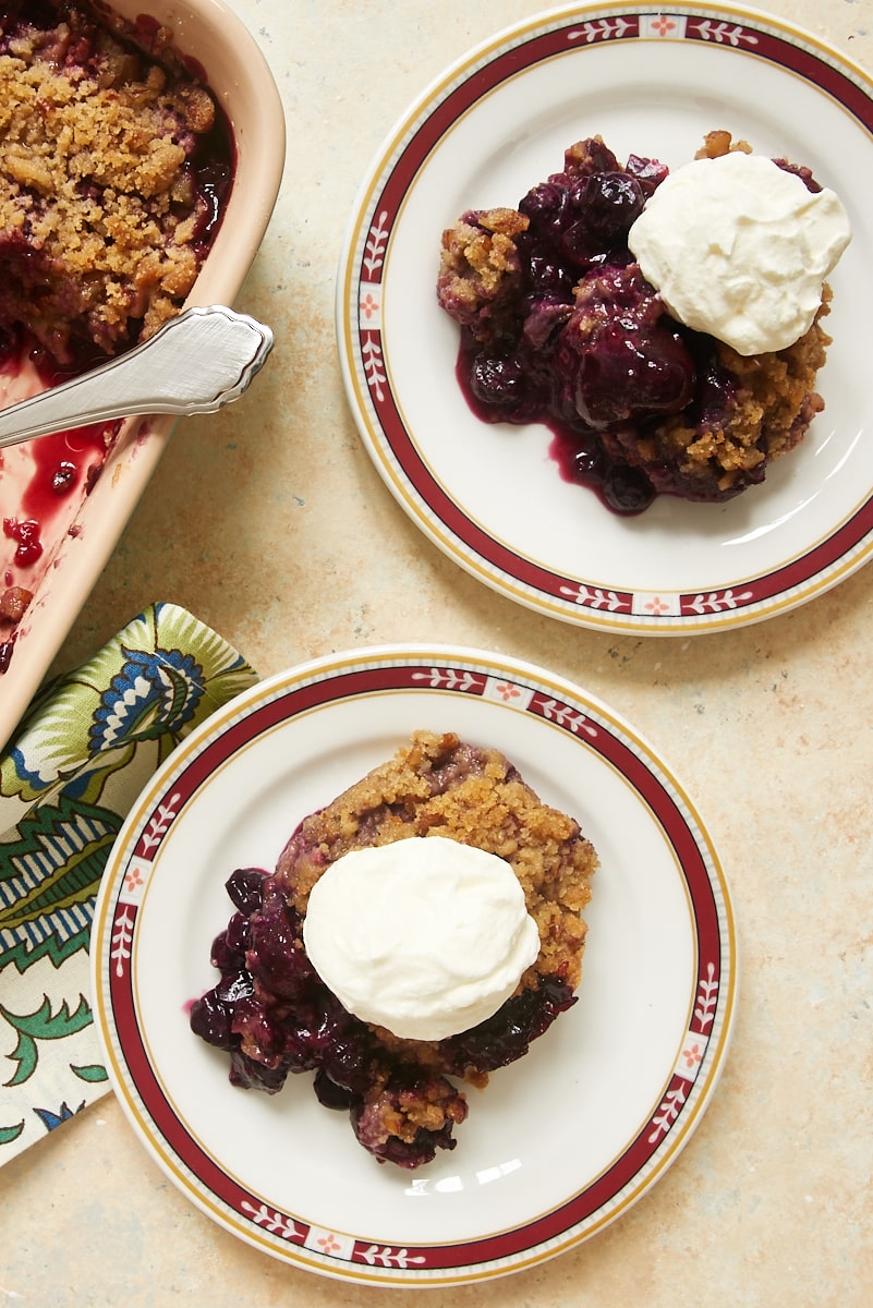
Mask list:
[[[157,56],[169,42],[152,34]],[[4,7],[0,85],[0,324],[61,361],[77,340],[112,354],[197,276],[212,95],[64,3]]]

